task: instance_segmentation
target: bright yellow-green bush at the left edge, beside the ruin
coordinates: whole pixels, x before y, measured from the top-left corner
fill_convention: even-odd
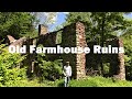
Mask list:
[[[20,68],[24,56],[11,54],[0,45],[0,82],[7,85],[26,78],[26,68]]]

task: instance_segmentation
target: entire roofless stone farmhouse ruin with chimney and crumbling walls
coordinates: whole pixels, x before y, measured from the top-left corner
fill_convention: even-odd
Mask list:
[[[57,40],[57,33],[62,35],[62,40],[59,43],[56,42]],[[26,41],[26,42],[25,42]],[[35,38],[20,38],[12,43],[13,45],[28,45],[28,51],[30,45],[38,45],[43,44],[45,47],[54,47],[57,44],[62,47],[86,47],[86,35],[85,35],[85,25],[81,22],[73,23],[70,25],[65,26],[64,29],[55,32],[48,33],[47,28],[44,25],[38,26],[38,36]],[[96,44],[96,43],[94,43]],[[123,46],[123,43],[120,38],[109,41],[107,44],[113,45],[113,46]],[[88,46],[92,51],[92,44],[88,43]],[[30,70],[32,72],[34,69],[34,61],[36,54],[30,54],[28,53],[26,62],[29,63]],[[73,68],[73,77],[76,79],[84,78],[86,76],[86,66],[94,66],[98,69],[98,64],[100,61],[99,54],[47,54],[46,55],[48,59],[57,59],[62,58],[63,63],[68,61],[70,63],[70,66]],[[111,76],[118,75],[119,79],[125,79],[125,69],[124,69],[124,59],[123,54],[116,54],[116,55],[102,55],[105,57],[103,63],[110,62],[110,70]],[[87,58],[87,59],[86,59]],[[31,64],[32,63],[32,64]],[[87,63],[87,64],[86,64]],[[92,64],[96,63],[96,64]]]

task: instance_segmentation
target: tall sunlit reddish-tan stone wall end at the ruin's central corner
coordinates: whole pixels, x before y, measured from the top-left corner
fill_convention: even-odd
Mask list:
[[[86,43],[86,36],[85,36],[85,25],[80,22],[76,23],[76,38],[77,44],[76,46],[85,48],[87,46]],[[77,69],[77,79],[80,79],[86,76],[85,68],[86,68],[86,54],[77,54],[76,55],[77,62],[76,62],[76,69]]]

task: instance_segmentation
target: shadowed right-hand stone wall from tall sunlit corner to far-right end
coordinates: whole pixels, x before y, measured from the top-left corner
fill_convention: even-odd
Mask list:
[[[106,46],[111,45],[112,47],[123,47],[123,42],[121,38],[119,37],[114,37],[111,40],[107,40],[106,42]],[[87,61],[87,65],[86,67],[89,68],[94,68],[95,70],[99,70],[99,65],[100,65],[100,57],[102,57],[102,63],[110,63],[109,66],[109,74],[107,74],[107,76],[110,77],[116,77],[118,79],[124,80],[125,79],[125,67],[124,67],[124,57],[123,57],[123,53],[121,54],[102,54],[100,56],[100,54],[94,54],[94,45],[97,45],[97,42],[89,42],[88,43],[91,52],[90,54],[87,54],[86,56],[86,61]],[[103,76],[106,76],[103,74]]]

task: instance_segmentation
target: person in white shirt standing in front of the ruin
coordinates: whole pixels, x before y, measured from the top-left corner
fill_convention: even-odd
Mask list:
[[[63,74],[65,76],[64,86],[68,87],[70,77],[72,77],[72,67],[69,66],[69,62],[66,62],[66,65],[64,66]]]

